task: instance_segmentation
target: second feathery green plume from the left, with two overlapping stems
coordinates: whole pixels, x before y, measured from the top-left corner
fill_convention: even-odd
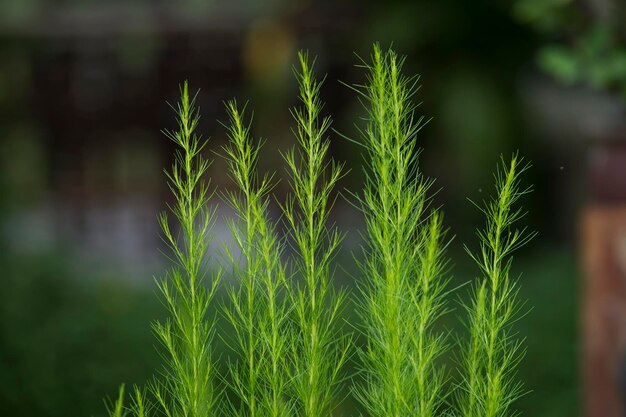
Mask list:
[[[232,406],[235,416],[290,415],[285,399],[288,375],[286,277],[282,265],[284,243],[268,218],[271,176],[256,172],[261,145],[254,145],[244,110],[235,101],[226,104],[229,145],[224,148],[237,193],[226,200],[235,211],[230,229],[241,259],[229,255],[238,287],[228,288],[226,317],[233,326],[233,349],[239,361],[229,364],[231,388],[241,404]],[[243,264],[243,266],[242,266]]]

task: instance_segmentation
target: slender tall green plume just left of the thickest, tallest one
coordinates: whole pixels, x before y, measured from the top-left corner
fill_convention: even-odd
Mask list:
[[[284,155],[292,195],[283,206],[297,252],[296,275],[303,279],[303,285],[291,292],[297,332],[292,352],[294,391],[302,416],[325,417],[336,400],[351,345],[337,323],[346,293],[332,283],[331,262],[342,235],[327,225],[343,166],[327,161],[331,120],[320,116],[322,83],[313,74],[315,61],[302,52],[298,59],[301,106],[292,110],[298,147]]]

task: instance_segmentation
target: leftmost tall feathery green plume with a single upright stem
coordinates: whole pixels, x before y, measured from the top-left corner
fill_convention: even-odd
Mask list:
[[[186,82],[174,110],[178,129],[164,133],[178,146],[167,178],[174,195],[169,208],[180,231],[170,226],[167,213],[159,217],[174,266],[164,280],[157,281],[170,317],[154,324],[164,348],[165,369],[152,391],[168,417],[210,417],[217,414],[218,387],[211,350],[215,318],[207,317],[207,311],[221,274],[207,268],[215,216],[207,208],[211,194],[203,177],[210,164],[201,155],[206,141],[195,133],[199,114]]]

